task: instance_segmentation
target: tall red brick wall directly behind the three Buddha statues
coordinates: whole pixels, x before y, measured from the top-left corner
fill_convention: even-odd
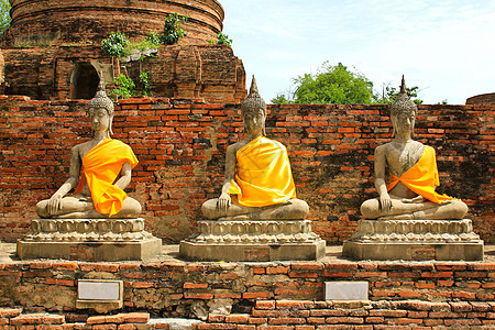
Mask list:
[[[89,139],[85,101],[0,100],[0,240],[29,230],[34,206],[67,178],[70,147]],[[298,197],[331,244],[355,229],[359,207],[375,197],[373,150],[389,141],[386,106],[271,106],[267,135],[287,145]],[[437,150],[441,186],[462,198],[474,230],[494,241],[495,107],[420,106],[418,140]],[[130,196],[147,230],[166,243],[194,233],[200,205],[220,193],[224,151],[242,136],[239,105],[131,99],[116,111],[114,138],[140,164]]]

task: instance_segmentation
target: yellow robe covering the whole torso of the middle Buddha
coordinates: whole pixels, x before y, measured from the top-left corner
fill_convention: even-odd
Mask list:
[[[296,198],[290,163],[285,146],[258,136],[237,154],[235,179],[229,194],[238,195],[240,205],[264,207]]]

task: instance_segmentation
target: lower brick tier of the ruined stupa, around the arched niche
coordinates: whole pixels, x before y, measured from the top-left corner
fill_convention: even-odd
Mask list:
[[[4,76],[3,92],[36,100],[89,98],[74,95],[77,81],[70,80],[76,80],[77,65],[90,66],[92,59],[112,64],[112,58],[100,46],[2,50],[2,56],[0,84]],[[154,56],[121,63],[121,72],[127,72],[136,82],[139,92],[142,90],[140,74],[147,73],[153,97],[237,103],[246,96],[244,66],[227,45],[161,46]],[[81,85],[87,88],[89,82]],[[97,86],[98,79],[94,81],[95,90]],[[108,89],[111,90],[112,85]],[[92,97],[95,91],[89,95]]]

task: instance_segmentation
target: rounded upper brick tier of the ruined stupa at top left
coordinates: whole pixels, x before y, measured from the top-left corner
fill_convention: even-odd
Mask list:
[[[131,38],[161,32],[164,20],[177,12],[188,15],[183,28],[186,44],[207,44],[222,30],[223,8],[215,0],[12,0],[11,28],[2,46],[20,44],[94,44],[110,32],[124,32]]]

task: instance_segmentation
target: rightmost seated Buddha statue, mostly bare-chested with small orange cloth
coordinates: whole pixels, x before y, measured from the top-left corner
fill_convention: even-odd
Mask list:
[[[375,150],[375,188],[380,197],[361,206],[366,219],[463,219],[468,206],[459,199],[440,195],[435,148],[414,141],[417,106],[406,92],[403,77],[400,92],[391,107],[394,141]],[[385,183],[388,169],[391,182]]]

